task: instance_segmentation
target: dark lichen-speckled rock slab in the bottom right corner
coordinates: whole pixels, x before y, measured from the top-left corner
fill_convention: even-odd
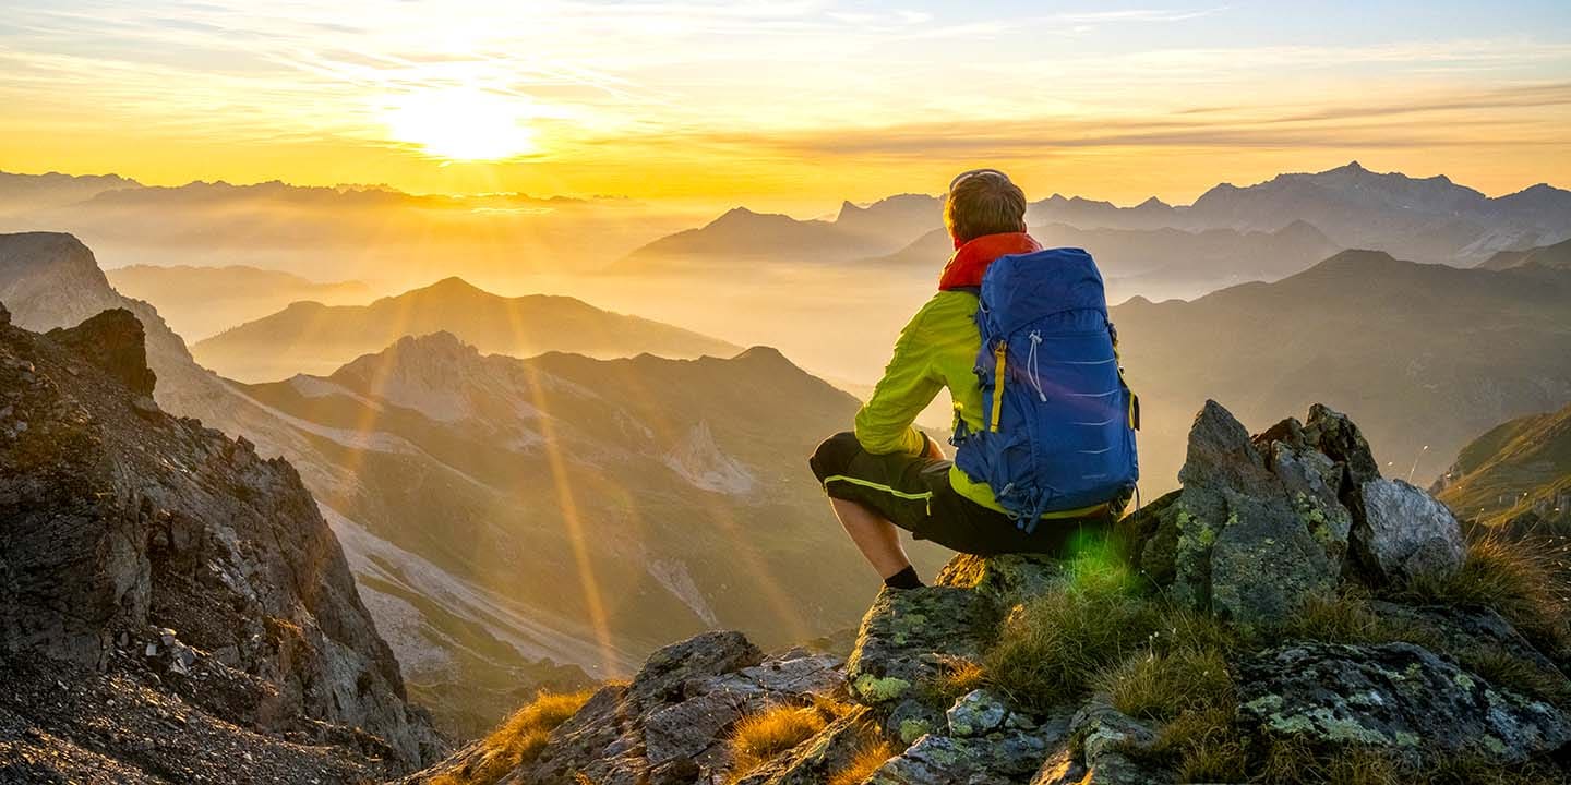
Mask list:
[[[1500,765],[1558,749],[1571,719],[1411,644],[1293,644],[1238,667],[1240,714],[1268,736]]]

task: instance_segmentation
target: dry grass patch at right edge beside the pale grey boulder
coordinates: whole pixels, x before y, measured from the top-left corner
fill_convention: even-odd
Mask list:
[[[1566,584],[1558,570],[1565,546],[1546,539],[1511,539],[1486,531],[1467,543],[1467,562],[1450,578],[1422,578],[1404,600],[1494,608],[1546,652],[1566,648]]]

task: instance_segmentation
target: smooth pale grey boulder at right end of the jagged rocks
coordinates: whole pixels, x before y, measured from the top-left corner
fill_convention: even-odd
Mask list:
[[[1461,568],[1467,556],[1463,528],[1434,496],[1403,480],[1373,479],[1362,485],[1353,548],[1381,579],[1447,578]]]

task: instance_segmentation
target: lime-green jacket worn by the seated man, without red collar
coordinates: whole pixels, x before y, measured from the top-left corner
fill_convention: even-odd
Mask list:
[[[938,391],[949,388],[955,418],[971,430],[982,430],[982,388],[977,385],[977,352],[982,333],[976,325],[977,297],[965,290],[933,295],[911,319],[894,344],[894,356],[872,399],[856,413],[856,441],[867,452],[921,455],[927,438],[913,424]],[[972,482],[958,466],[949,469],[949,484],[961,496],[998,512],[1005,512],[985,482]]]

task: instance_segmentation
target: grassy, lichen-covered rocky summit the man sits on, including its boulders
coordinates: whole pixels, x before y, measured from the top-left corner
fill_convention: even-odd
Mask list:
[[[1251,436],[1208,403],[1181,479],[1068,560],[958,556],[936,586],[884,590],[844,663],[709,633],[501,776],[471,747],[410,782],[1568,776],[1566,615],[1543,562],[1464,542],[1326,407]],[[779,711],[826,717],[759,755],[749,728]]]

